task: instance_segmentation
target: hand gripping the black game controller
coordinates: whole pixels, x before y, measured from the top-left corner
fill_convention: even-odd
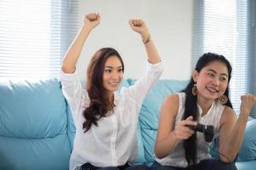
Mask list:
[[[196,126],[197,122],[193,121],[193,116],[189,116],[186,120],[177,122],[173,130],[173,134],[178,140],[189,139],[195,133],[188,125]]]

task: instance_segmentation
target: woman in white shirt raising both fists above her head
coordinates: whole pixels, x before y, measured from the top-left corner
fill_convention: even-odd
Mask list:
[[[70,169],[147,169],[130,162],[137,156],[137,119],[143,99],[160,78],[163,65],[145,22],[130,20],[148,54],[143,77],[118,93],[125,65],[114,48],[101,48],[90,59],[86,87],[82,88],[76,64],[87,37],[100,21],[100,14],[84,15],[84,24],[61,66],[62,91],[76,126]]]

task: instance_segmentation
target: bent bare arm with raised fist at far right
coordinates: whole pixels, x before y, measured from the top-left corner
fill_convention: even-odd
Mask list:
[[[234,161],[240,150],[247,119],[250,111],[256,105],[256,97],[252,94],[241,96],[241,112],[236,120],[235,112],[226,107],[220,121],[219,152],[221,161]]]

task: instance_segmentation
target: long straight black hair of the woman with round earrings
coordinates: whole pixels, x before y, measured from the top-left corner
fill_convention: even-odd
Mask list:
[[[197,61],[197,64],[195,65],[195,71],[200,72],[204,67],[206,67],[213,61],[224,63],[224,65],[227,66],[228,73],[229,73],[228,82],[230,82],[232,67],[230,65],[230,62],[227,59],[225,59],[223,55],[212,54],[212,53],[203,54],[201,58]],[[191,77],[187,87],[182,90],[182,92],[186,94],[185,111],[183,114],[183,120],[185,120],[189,116],[193,116],[194,121],[197,121],[197,118],[199,115],[199,112],[197,109],[196,95],[192,94],[192,88],[194,84],[195,82],[193,80],[193,77]],[[226,88],[224,95],[228,97],[228,101],[225,105],[228,105],[232,108],[232,105],[229,99],[229,86],[228,88]],[[196,163],[195,159],[197,154],[196,133],[194,133],[189,139],[184,140],[183,147],[185,150],[185,157],[188,162],[188,165],[195,164]]]

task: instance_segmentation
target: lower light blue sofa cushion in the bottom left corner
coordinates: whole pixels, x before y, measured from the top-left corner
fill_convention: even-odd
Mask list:
[[[46,139],[0,136],[0,169],[65,170],[71,153],[66,134]]]

